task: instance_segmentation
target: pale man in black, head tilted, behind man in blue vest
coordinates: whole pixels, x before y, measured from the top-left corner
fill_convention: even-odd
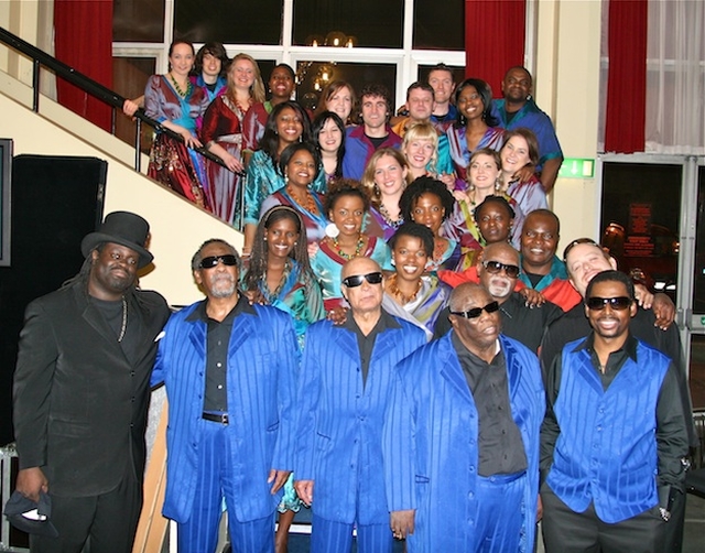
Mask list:
[[[573,240],[565,247],[563,258],[571,285],[581,294],[581,297],[585,296],[587,286],[596,274],[617,268],[615,259],[590,238]],[[589,332],[590,325],[582,303],[552,323],[546,328],[541,343],[540,357],[544,375],[547,373],[554,359],[560,356],[567,343],[587,336]],[[686,421],[688,443],[692,447],[696,447],[699,441],[693,423],[693,405],[677,328],[674,325],[669,326],[663,318],[658,318],[653,310],[637,308],[637,313],[630,322],[629,332],[637,339],[666,355],[677,368],[676,378],[681,391],[681,404]],[[669,553],[677,553],[683,545],[685,490],[683,487],[677,490],[679,492],[675,492],[673,498],[671,520],[665,528],[665,549],[663,551]]]

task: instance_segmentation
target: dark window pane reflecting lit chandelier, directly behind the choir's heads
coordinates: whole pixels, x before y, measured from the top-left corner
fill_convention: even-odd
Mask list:
[[[328,74],[328,80],[322,79],[324,73]],[[346,80],[355,88],[358,96],[362,87],[369,83],[379,83],[389,90],[389,97],[394,101],[397,82],[395,64],[351,64],[351,63],[321,63],[299,62],[296,72],[301,84],[296,87],[296,98],[310,109],[315,109],[321,99],[321,91],[326,83],[332,80]],[[319,86],[316,87],[316,80]]]

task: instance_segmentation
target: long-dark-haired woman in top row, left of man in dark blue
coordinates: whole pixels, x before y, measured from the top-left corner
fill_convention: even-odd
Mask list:
[[[505,131],[491,115],[492,90],[479,78],[465,79],[455,90],[458,120],[446,134],[458,189],[466,188],[467,167],[473,153],[481,148],[499,151],[505,143]]]

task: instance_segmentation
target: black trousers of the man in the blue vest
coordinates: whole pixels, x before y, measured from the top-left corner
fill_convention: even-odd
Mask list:
[[[659,507],[631,519],[603,522],[590,502],[575,512],[547,486],[541,488],[543,543],[546,553],[662,553],[666,522]]]

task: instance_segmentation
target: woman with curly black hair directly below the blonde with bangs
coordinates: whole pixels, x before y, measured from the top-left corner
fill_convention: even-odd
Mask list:
[[[443,236],[443,224],[455,206],[446,185],[430,176],[421,176],[404,191],[399,205],[404,220],[423,225],[433,235],[433,250],[429,253],[426,271],[455,270],[460,264],[460,245]]]

